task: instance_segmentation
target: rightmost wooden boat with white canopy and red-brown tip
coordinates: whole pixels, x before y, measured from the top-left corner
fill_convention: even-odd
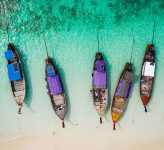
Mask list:
[[[151,98],[154,85],[155,75],[155,49],[153,44],[148,44],[145,56],[142,63],[142,70],[140,76],[140,97],[147,112],[147,104]]]

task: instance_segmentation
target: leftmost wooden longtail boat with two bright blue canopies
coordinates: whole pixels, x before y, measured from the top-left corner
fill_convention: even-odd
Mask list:
[[[12,93],[19,107],[18,113],[21,114],[21,108],[26,93],[26,84],[22,63],[14,44],[8,44],[7,51],[5,51],[5,57],[7,60],[8,77]]]

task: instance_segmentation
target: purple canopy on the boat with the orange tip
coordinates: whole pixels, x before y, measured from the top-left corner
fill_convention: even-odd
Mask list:
[[[131,89],[132,82],[128,80],[121,79],[117,86],[116,96],[123,97],[127,99],[129,97],[130,89]]]

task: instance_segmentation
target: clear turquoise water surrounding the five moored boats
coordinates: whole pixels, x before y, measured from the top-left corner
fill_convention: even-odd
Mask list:
[[[155,47],[157,70],[153,97],[148,114],[139,97],[139,76],[146,44],[151,42],[156,20]],[[100,51],[108,66],[110,100],[117,80],[130,59],[135,84],[127,111],[117,125],[118,130],[140,130],[147,135],[164,136],[164,1],[153,0],[2,0],[0,2],[0,139],[36,135],[61,130],[61,122],[53,112],[44,80],[46,57],[43,32],[49,55],[55,60],[67,93],[66,129],[89,130],[105,126],[112,131],[108,107],[100,127],[90,93],[91,72],[97,51],[96,30],[100,32]],[[4,51],[7,48],[6,24],[10,24],[10,41],[22,58],[27,82],[23,114],[17,114],[7,77]],[[102,129],[103,130],[103,129]],[[64,131],[63,131],[64,132]]]

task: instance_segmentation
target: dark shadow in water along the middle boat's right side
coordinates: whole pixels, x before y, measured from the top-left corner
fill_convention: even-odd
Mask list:
[[[108,102],[106,106],[106,111],[104,114],[104,118],[109,122],[109,110],[110,110],[110,104],[111,104],[111,70],[112,70],[112,65],[109,63],[108,58],[106,57],[106,54],[103,55],[104,60],[106,62],[107,66],[107,87],[108,87]]]

